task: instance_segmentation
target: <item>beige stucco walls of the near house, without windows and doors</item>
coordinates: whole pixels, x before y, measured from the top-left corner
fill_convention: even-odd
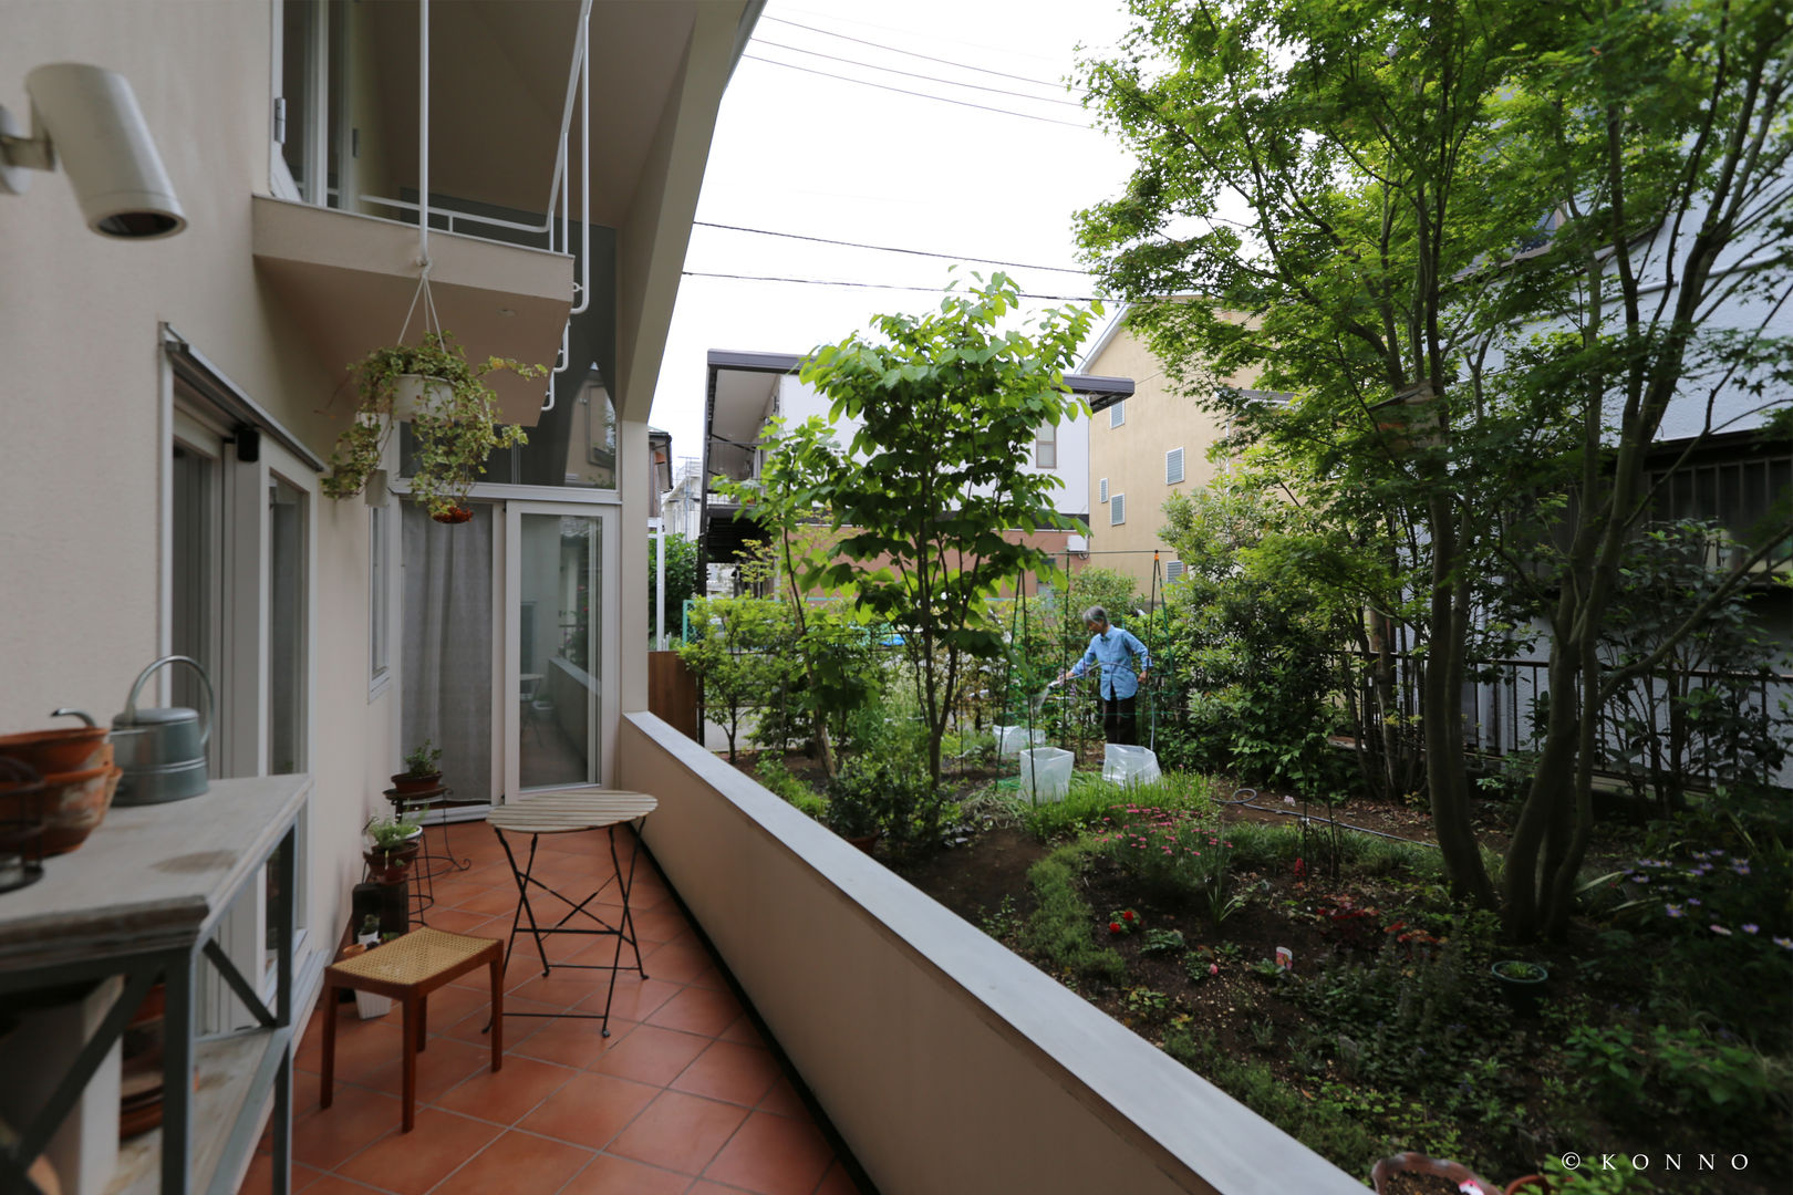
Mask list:
[[[360,193],[414,199],[418,5],[308,11],[348,14],[330,45],[350,54],[344,73],[362,84],[342,107],[360,134]],[[0,735],[56,726],[50,711],[65,706],[109,722],[138,672],[197,616],[170,561],[178,475],[188,468],[181,453],[201,444],[212,453],[208,511],[219,511],[206,532],[217,588],[203,620],[217,634],[213,681],[226,708],[221,726],[231,727],[212,774],[314,778],[301,821],[303,1010],[362,878],[360,830],[387,810],[387,778],[416,745],[400,740],[396,666],[378,675],[369,661],[377,618],[385,640],[398,641],[403,486],[332,500],[319,480],[350,417],[344,364],[398,339],[421,249],[402,206],[326,206],[321,183],[301,179],[296,193],[283,177],[273,120],[282,14],[282,0],[0,0],[0,106],[30,127],[25,79],[39,64],[122,73],[188,222],[161,240],[113,240],[88,229],[65,170],[32,170],[25,193],[0,190]],[[473,498],[579,502],[606,520],[611,573],[599,625],[613,679],[602,695],[602,779],[613,783],[619,720],[647,704],[647,586],[633,564],[647,555],[647,412],[717,106],[757,5],[599,0],[583,154],[568,99],[579,77],[579,0],[436,5],[430,61],[432,75],[445,77],[430,102],[430,193],[540,219],[568,111],[574,161],[593,163],[588,181],[570,170],[577,181],[567,186],[572,219],[588,210],[615,245],[613,272],[595,279],[602,292],[593,297],[613,322],[620,477],[611,491],[543,496],[479,486]],[[396,61],[402,54],[409,61]],[[468,57],[495,68],[468,75]],[[348,170],[330,161],[333,193]],[[541,249],[464,224],[437,228],[429,256],[443,324],[463,333],[475,360],[554,362],[579,278],[563,247],[581,244],[577,233],[570,245]],[[195,369],[206,378],[197,389]],[[565,403],[576,383],[563,389]],[[231,416],[237,400],[247,407]],[[541,387],[500,387],[500,400],[506,419],[533,423]],[[260,423],[258,451],[242,434],[253,426],[242,410]],[[289,552],[280,577],[271,487],[298,503],[303,525],[296,570]],[[373,595],[377,507],[391,536],[384,607]],[[500,573],[498,609],[502,586]],[[294,604],[292,622],[278,623],[294,632],[276,634]],[[502,622],[493,634],[504,634]],[[389,650],[396,665],[398,650]],[[502,672],[502,661],[495,666]],[[292,747],[290,735],[269,726],[276,688],[298,693]],[[165,672],[140,704],[192,702]],[[515,711],[515,697],[498,690],[500,752],[507,708]],[[260,966],[258,950],[246,953]],[[117,1098],[109,1114],[117,1120]]]

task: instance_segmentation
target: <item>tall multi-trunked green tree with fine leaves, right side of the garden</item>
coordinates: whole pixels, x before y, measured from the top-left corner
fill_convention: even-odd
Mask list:
[[[1366,563],[1368,623],[1413,634],[1440,847],[1452,890],[1483,905],[1461,693],[1503,606],[1542,613],[1565,699],[1503,898],[1511,935],[1562,932],[1599,709],[1662,658],[1605,675],[1596,658],[1650,511],[1646,450],[1676,392],[1698,405],[1789,382],[1784,340],[1763,331],[1793,244],[1784,5],[1131,9],[1122,52],[1085,79],[1139,168],[1083,213],[1085,249],[1140,301],[1135,326],[1171,376],[1264,444]],[[1754,269],[1719,269],[1739,254]],[[1664,269],[1676,285],[1653,285]],[[1203,297],[1153,301],[1167,294]],[[1754,326],[1703,322],[1752,297]],[[1295,401],[1212,380],[1246,367]],[[1752,537],[1754,559],[1784,536]]]

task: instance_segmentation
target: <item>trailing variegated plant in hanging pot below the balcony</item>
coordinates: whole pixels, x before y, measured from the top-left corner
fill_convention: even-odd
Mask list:
[[[411,419],[416,437],[411,496],[441,523],[464,523],[473,482],[497,448],[527,443],[518,426],[498,423],[498,396],[486,376],[509,369],[520,378],[547,374],[504,357],[470,362],[446,331],[423,335],[423,344],[394,344],[350,365],[359,385],[355,421],[337,437],[323,491],[332,498],[359,494],[385,453],[393,423]]]

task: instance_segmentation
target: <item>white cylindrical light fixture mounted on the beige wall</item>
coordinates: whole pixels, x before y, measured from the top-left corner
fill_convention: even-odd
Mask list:
[[[54,63],[25,75],[25,93],[30,133],[0,107],[0,193],[25,193],[27,170],[56,170],[61,159],[95,233],[151,240],[186,228],[174,183],[124,75]]]

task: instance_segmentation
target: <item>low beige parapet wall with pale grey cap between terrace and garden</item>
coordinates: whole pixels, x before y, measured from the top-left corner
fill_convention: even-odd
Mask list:
[[[1363,1184],[651,713],[645,840],[884,1195]]]

